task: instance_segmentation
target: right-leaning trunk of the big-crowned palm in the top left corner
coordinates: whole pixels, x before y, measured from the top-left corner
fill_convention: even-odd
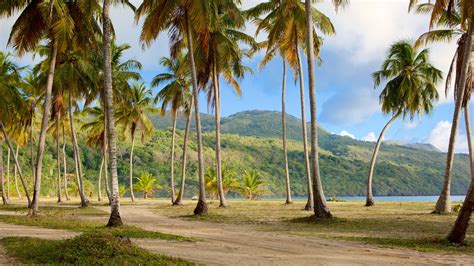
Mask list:
[[[56,68],[56,56],[58,54],[58,46],[55,43],[54,39],[52,40],[52,49],[49,62],[48,70],[48,79],[46,81],[46,93],[44,96],[44,107],[43,107],[43,120],[41,121],[41,130],[39,135],[38,142],[38,154],[36,156],[36,173],[35,173],[35,186],[33,190],[33,203],[31,205],[31,216],[36,216],[38,214],[39,208],[39,197],[41,192],[41,174],[43,171],[43,153],[44,146],[46,144],[46,130],[48,128],[48,121],[51,113],[51,96],[53,92],[53,80],[54,80],[54,71]]]

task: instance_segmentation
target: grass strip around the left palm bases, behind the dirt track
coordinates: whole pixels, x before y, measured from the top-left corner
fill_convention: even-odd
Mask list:
[[[0,210],[9,210],[27,213],[26,207],[15,205],[0,207]],[[148,231],[136,226],[124,225],[120,227],[106,227],[104,222],[79,219],[78,216],[104,216],[106,221],[107,213],[95,208],[78,208],[77,206],[45,206],[41,208],[41,214],[37,217],[27,217],[26,215],[0,215],[0,222],[39,226],[50,229],[64,229],[74,232],[108,232],[115,236],[126,236],[130,238],[154,238],[175,241],[194,241],[190,237],[164,234],[155,231]]]

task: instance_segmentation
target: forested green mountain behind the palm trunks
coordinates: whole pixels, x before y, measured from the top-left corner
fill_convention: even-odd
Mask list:
[[[159,177],[163,190],[169,190],[169,159],[171,121],[169,117],[152,116],[157,131],[143,143],[138,142],[134,157],[135,177],[147,171]],[[305,195],[303,145],[301,142],[301,120],[288,115],[288,156],[292,191],[297,196]],[[214,167],[213,117],[202,114],[204,159],[206,167]],[[181,147],[184,120],[178,121],[176,178],[179,182]],[[130,143],[126,131],[122,132],[117,147],[118,173],[121,184],[128,184],[128,158]],[[274,196],[284,195],[284,170],[281,148],[281,113],[269,111],[246,111],[222,119],[223,161],[243,171],[257,169],[265,177],[266,184]],[[369,160],[374,143],[354,140],[330,134],[320,128],[319,145],[321,176],[326,195],[364,195]],[[79,132],[79,144],[86,176],[86,188],[93,192],[97,181],[100,152],[86,146],[87,132]],[[68,140],[70,141],[70,140]],[[53,139],[48,139],[45,151],[43,194],[55,195],[55,158]],[[186,195],[197,194],[197,145],[192,132],[189,144],[189,165]],[[4,158],[6,158],[6,149]],[[72,147],[67,145],[68,167],[74,170]],[[402,145],[383,143],[374,177],[375,195],[437,195],[440,192],[446,155],[429,144]],[[31,182],[29,149],[20,149],[23,172]],[[469,185],[468,156],[458,154],[455,158],[452,182],[453,194],[464,194]],[[70,184],[74,184],[71,177]],[[13,184],[12,184],[13,187]],[[12,189],[13,191],[13,189]]]

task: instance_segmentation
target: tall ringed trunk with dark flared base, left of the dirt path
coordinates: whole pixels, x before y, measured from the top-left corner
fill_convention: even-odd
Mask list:
[[[115,137],[115,109],[114,109],[114,91],[112,89],[112,22],[110,21],[110,0],[104,0],[102,12],[103,44],[104,44],[104,89],[105,89],[105,107],[107,114],[107,133],[108,148],[110,160],[110,175],[112,186],[112,202],[110,204],[110,219],[107,226],[122,225],[120,217],[120,194],[117,176],[117,154]]]

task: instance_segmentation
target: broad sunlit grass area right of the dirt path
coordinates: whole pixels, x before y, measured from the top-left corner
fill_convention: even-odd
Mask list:
[[[261,231],[283,232],[305,237],[343,239],[364,243],[403,247],[423,252],[461,253],[474,255],[474,235],[468,232],[466,245],[445,241],[456,214],[434,215],[433,203],[377,202],[364,207],[362,201],[329,202],[335,216],[331,220],[314,219],[303,210],[305,202],[231,200],[228,208],[209,204],[209,215],[193,216],[194,204],[172,207],[159,203],[156,212],[186,220],[248,225]],[[471,228],[472,229],[472,228]]]

